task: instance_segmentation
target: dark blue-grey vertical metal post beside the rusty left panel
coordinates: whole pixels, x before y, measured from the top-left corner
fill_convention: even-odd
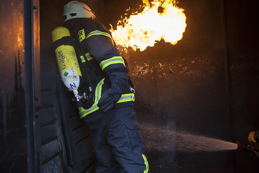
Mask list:
[[[35,172],[35,100],[33,61],[33,0],[24,0],[25,105],[27,172]]]

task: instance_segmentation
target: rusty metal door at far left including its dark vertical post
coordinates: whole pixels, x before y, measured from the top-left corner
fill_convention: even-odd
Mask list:
[[[1,172],[41,170],[40,124],[35,120],[40,101],[34,102],[40,91],[39,9],[33,10],[38,2],[0,3]]]

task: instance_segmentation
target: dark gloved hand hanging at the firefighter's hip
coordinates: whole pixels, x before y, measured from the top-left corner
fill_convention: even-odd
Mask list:
[[[119,101],[122,95],[122,89],[125,87],[127,80],[121,78],[112,78],[111,88],[106,90],[98,101],[97,106],[99,110],[104,110],[106,113],[108,110],[115,107],[115,104]]]

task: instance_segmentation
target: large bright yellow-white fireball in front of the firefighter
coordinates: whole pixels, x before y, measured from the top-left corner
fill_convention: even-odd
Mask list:
[[[117,45],[133,50],[145,50],[148,46],[154,46],[157,41],[175,45],[182,39],[186,28],[186,16],[184,9],[177,7],[173,0],[142,0],[144,8],[141,13],[132,11],[129,18],[119,20],[116,30],[111,25],[111,33]],[[158,9],[161,10],[158,10]],[[162,11],[163,9],[163,11]],[[126,10],[126,13],[130,9]],[[159,13],[159,11],[162,11]],[[122,18],[122,16],[121,16]]]

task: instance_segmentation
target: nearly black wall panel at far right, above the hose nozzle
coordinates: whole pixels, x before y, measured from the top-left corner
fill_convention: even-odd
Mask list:
[[[233,3],[234,2],[234,3]],[[259,129],[258,1],[224,1],[233,140],[247,143],[250,131]],[[259,169],[251,153],[234,153],[235,166]]]

